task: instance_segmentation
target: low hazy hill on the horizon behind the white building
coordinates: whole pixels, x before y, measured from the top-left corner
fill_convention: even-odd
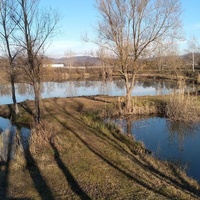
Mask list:
[[[100,65],[100,61],[97,57],[91,56],[74,56],[74,57],[62,57],[62,58],[51,58],[52,63],[57,64],[65,64],[67,65],[75,65],[75,66],[98,66]]]

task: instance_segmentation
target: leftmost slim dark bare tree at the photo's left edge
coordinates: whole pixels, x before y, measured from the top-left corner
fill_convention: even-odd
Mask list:
[[[11,84],[14,111],[17,114],[19,110],[15,94],[15,82],[17,75],[15,58],[20,53],[20,49],[17,48],[14,41],[16,24],[11,19],[14,8],[16,8],[14,0],[2,0],[0,2],[0,40],[2,44],[1,58],[5,61],[4,71],[7,73],[8,80]]]

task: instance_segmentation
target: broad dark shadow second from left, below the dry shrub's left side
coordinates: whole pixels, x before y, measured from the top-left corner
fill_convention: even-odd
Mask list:
[[[37,166],[31,152],[29,150],[29,146],[24,147],[25,159],[26,159],[26,167],[30,173],[30,176],[33,180],[35,189],[38,191],[41,199],[55,199],[49,186],[45,182],[44,178],[41,175],[40,169]]]

